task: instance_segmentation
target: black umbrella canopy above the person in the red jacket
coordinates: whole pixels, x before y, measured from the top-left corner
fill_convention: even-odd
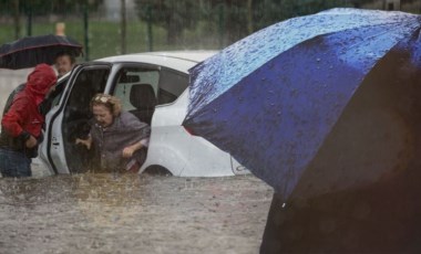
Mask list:
[[[81,55],[82,45],[69,36],[27,36],[0,47],[0,68],[19,70],[37,64],[53,64],[58,53],[66,52],[75,57]]]

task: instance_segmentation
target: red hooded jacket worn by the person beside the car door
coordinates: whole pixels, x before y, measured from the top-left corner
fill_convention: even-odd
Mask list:
[[[25,88],[17,94],[10,109],[4,114],[1,120],[2,133],[6,131],[11,138],[24,136],[27,139],[28,134],[40,137],[44,117],[39,113],[38,106],[55,83],[57,75],[50,65],[37,65],[28,76]]]

